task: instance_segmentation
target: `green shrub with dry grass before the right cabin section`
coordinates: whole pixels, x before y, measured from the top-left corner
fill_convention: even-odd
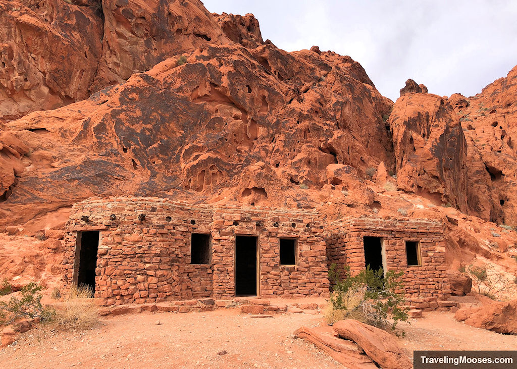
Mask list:
[[[368,267],[352,276],[348,266],[339,271],[336,264],[332,264],[328,273],[333,286],[329,299],[331,308],[327,309],[333,312],[329,313],[327,322],[342,314],[345,318],[394,331],[399,320],[407,320],[406,309],[401,307],[404,294],[398,292],[403,290],[400,281],[403,271],[388,270],[384,275],[382,269],[373,271]],[[388,319],[393,322],[390,324]]]

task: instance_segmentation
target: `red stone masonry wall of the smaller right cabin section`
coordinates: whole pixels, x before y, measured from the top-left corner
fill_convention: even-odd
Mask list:
[[[444,300],[451,290],[445,272],[443,232],[443,224],[430,220],[364,217],[334,222],[327,237],[328,263],[348,265],[357,274],[365,267],[363,237],[381,237],[387,269],[404,270],[406,298]],[[420,243],[421,266],[407,266],[405,241]]]

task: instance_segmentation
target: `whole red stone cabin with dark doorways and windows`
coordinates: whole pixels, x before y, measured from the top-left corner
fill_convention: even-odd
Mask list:
[[[307,209],[192,206],[162,198],[92,197],[66,224],[65,290],[103,305],[237,296],[328,297],[328,266],[403,268],[407,297],[444,299],[444,225],[348,218]]]

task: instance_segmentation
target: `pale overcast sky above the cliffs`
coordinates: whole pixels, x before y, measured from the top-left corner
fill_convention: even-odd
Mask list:
[[[204,0],[210,12],[253,13],[287,51],[350,55],[393,101],[408,78],[429,93],[473,96],[517,65],[517,1]]]

